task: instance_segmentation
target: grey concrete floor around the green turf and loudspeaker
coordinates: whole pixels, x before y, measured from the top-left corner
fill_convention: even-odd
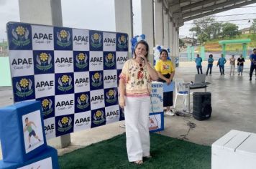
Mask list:
[[[245,63],[243,76],[237,76],[237,72],[234,76],[229,76],[228,63],[226,75],[220,76],[219,67],[214,64],[212,75],[206,77],[206,82],[211,83],[207,92],[211,92],[213,109],[209,120],[198,121],[193,117],[165,116],[165,130],[160,134],[183,138],[200,145],[211,145],[232,129],[256,133],[256,80],[253,77],[252,81],[249,81],[250,61],[247,60]],[[203,72],[206,72],[206,62],[203,63]],[[175,77],[183,78],[185,82],[191,82],[194,74],[196,74],[194,62],[181,62],[180,67],[175,69]],[[193,92],[201,91],[204,90],[193,90]],[[0,87],[0,96],[0,107],[12,104],[11,87]],[[181,100],[181,98],[178,100],[177,110],[182,108]],[[194,123],[196,127],[190,129],[188,122]],[[68,148],[59,148],[52,140],[47,142],[58,149],[59,155],[63,155],[63,153],[122,134],[124,128],[120,125],[123,124],[124,122],[116,122],[91,130],[71,133],[72,143]]]

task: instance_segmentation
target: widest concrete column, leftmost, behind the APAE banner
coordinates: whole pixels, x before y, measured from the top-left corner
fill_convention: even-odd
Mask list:
[[[38,9],[39,6],[40,9]],[[21,22],[63,26],[61,1],[19,0],[19,17]],[[68,147],[70,143],[70,134],[47,140],[47,144],[61,148]]]

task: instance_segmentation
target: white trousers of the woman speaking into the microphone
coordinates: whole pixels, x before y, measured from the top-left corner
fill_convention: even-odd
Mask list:
[[[125,98],[124,117],[130,162],[150,155],[149,114],[149,96]]]

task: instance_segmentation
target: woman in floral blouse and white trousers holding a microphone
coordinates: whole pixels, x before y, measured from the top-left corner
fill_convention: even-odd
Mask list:
[[[140,41],[133,58],[124,63],[119,75],[119,105],[124,108],[129,162],[142,164],[142,157],[150,158],[150,90],[157,72],[148,62],[149,47]]]

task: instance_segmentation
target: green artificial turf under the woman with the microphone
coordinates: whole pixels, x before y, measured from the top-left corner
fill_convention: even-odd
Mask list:
[[[152,158],[142,165],[129,163],[125,134],[59,157],[60,168],[211,168],[211,147],[150,134]]]

